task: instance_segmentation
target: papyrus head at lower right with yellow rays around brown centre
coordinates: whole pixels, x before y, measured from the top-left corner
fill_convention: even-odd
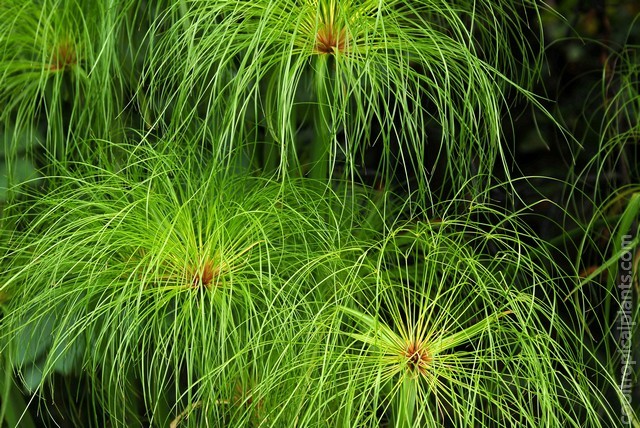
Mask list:
[[[556,312],[549,256],[522,237],[455,216],[393,228],[354,268],[357,297],[326,305],[304,332],[323,345],[307,351],[315,383],[296,421],[618,423]]]

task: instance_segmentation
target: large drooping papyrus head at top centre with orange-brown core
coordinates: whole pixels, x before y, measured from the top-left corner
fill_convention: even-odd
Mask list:
[[[530,84],[539,67],[540,51],[520,37],[536,31],[537,7],[180,1],[170,25],[158,24],[144,81],[161,129],[195,121],[205,142],[223,143],[222,157],[238,140],[258,142],[265,170],[324,179],[357,176],[376,147],[379,162],[367,166],[379,180],[400,177],[427,195],[436,164],[459,187],[506,160],[505,98],[526,93],[516,82]]]

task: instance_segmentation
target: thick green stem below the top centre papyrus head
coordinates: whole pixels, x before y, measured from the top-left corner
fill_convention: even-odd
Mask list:
[[[331,107],[328,96],[328,55],[318,55],[316,59],[314,85],[317,105],[314,117],[315,139],[311,150],[310,177],[326,181],[329,174],[329,153],[331,147]]]

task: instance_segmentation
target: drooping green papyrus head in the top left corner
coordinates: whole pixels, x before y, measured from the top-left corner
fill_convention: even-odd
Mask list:
[[[131,123],[135,2],[3,1],[0,124],[30,133],[60,160],[74,137],[107,138]],[[142,12],[138,12],[142,13]],[[81,147],[85,154],[88,148]]]

